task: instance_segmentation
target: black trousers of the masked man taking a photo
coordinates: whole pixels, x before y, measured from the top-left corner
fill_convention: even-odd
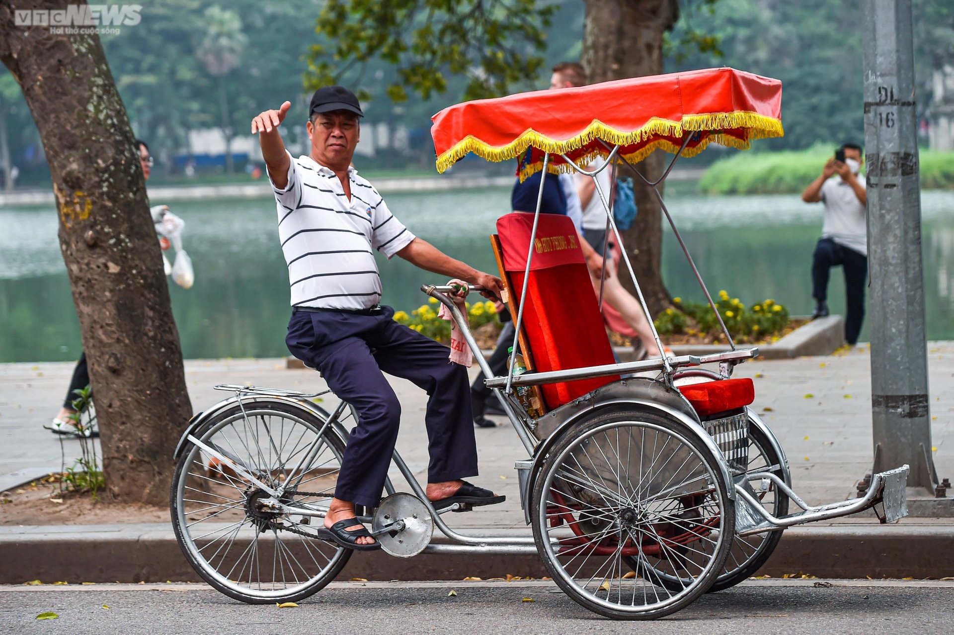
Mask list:
[[[822,238],[815,245],[812,258],[812,297],[819,302],[825,302],[828,298],[829,269],[833,266],[841,266],[844,271],[847,305],[844,339],[848,344],[855,344],[858,342],[861,321],[864,319],[864,286],[868,276],[868,257],[830,238]]]

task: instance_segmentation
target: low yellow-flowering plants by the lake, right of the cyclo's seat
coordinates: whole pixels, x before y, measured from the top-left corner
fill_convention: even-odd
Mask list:
[[[699,335],[720,339],[723,337],[716,314],[708,304],[683,302],[674,298],[674,308],[667,308],[654,320],[660,335]],[[758,341],[774,337],[789,323],[788,309],[768,299],[752,307],[738,298],[731,298],[725,290],[718,292],[716,308],[725,327],[738,342]],[[695,327],[691,325],[695,324]]]

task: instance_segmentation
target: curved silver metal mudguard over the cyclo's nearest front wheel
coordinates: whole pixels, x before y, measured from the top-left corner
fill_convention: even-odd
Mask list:
[[[654,410],[684,424],[685,434],[695,436],[716,457],[719,470],[722,472],[725,482],[729,485],[729,498],[735,499],[736,491],[731,487],[733,480],[729,471],[729,464],[723,458],[712,436],[699,423],[698,415],[689,401],[682,396],[681,392],[661,381],[646,377],[633,377],[607,384],[536,420],[534,432],[542,440],[534,450],[532,464],[529,468],[529,477],[522,479],[525,487],[520,492],[521,501],[524,503],[524,519],[526,519],[527,524],[530,523],[528,502],[533,483],[540,472],[544,459],[550,454],[550,448],[561,434],[592,413],[623,410],[630,406]],[[769,438],[775,437],[769,434]]]

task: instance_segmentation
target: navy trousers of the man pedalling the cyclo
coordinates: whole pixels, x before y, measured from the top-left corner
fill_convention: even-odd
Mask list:
[[[376,507],[401,423],[401,404],[384,372],[427,392],[428,482],[477,476],[477,442],[467,369],[449,350],[392,318],[394,309],[364,313],[294,312],[285,344],[358,411],[348,438],[335,497]]]

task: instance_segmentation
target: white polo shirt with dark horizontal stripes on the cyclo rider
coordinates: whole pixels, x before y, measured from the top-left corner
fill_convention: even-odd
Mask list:
[[[305,155],[289,159],[288,184],[279,189],[273,182],[272,189],[292,307],[374,307],[382,288],[372,249],[391,258],[414,235],[353,167],[348,201],[329,168]]]

